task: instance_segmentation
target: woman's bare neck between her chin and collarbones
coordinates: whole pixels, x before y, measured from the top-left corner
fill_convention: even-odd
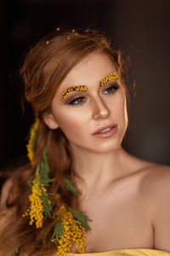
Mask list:
[[[122,146],[105,153],[71,146],[75,172],[88,189],[106,188],[116,179],[129,173],[127,163],[132,156]],[[75,178],[75,181],[79,183],[80,180]]]

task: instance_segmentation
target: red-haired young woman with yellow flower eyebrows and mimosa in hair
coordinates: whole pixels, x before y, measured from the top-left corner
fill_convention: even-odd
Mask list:
[[[20,69],[36,113],[9,172],[0,255],[170,255],[170,168],[122,148],[121,54],[97,31],[42,38]]]

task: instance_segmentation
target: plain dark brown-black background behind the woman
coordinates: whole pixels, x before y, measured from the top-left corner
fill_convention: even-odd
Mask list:
[[[104,30],[116,49],[131,56],[132,91],[124,148],[170,165],[170,1],[15,0],[0,2],[0,167],[26,155],[31,108],[21,109],[18,75],[26,51],[58,26]]]

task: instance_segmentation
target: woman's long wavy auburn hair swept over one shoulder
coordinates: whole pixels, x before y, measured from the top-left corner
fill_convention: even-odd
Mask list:
[[[56,90],[71,69],[93,52],[109,56],[124,84],[121,53],[111,48],[111,41],[107,40],[103,33],[92,29],[76,32],[56,31],[42,38],[30,49],[20,68],[20,75],[25,84],[26,100],[39,114],[40,125],[34,146],[36,156],[34,165],[31,166],[28,162],[8,174],[12,185],[8,191],[6,207],[3,207],[0,213],[0,255],[2,256],[12,255],[19,247],[21,256],[46,256],[56,251],[50,238],[57,219],[44,218],[42,228],[37,230],[35,225],[29,225],[27,218],[22,217],[29,207],[28,181],[35,173],[46,145],[50,177],[54,178],[54,183],[50,185],[48,192],[61,195],[59,201],[53,198],[53,209],[57,211],[63,202],[71,206],[74,195],[65,189],[63,183],[64,175],[71,176],[74,173],[70,144],[60,128],[57,130],[48,128],[42,119],[42,114],[50,111]],[[124,86],[124,89],[128,100],[127,87]]]

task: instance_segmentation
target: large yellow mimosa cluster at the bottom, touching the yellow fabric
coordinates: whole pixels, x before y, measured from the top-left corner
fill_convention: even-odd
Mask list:
[[[81,222],[73,217],[73,214],[68,211],[65,205],[62,205],[59,209],[61,214],[61,221],[63,224],[62,235],[59,238],[59,244],[57,246],[57,255],[65,256],[70,252],[71,243],[76,241],[78,252],[85,253],[85,240],[86,232]],[[55,241],[52,239],[51,241]]]

